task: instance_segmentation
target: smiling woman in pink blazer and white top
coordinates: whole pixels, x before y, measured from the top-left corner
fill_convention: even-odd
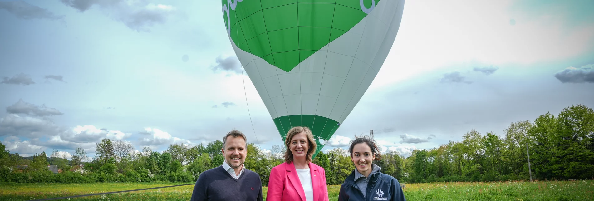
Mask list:
[[[270,171],[267,201],[327,201],[326,172],[315,165],[316,144],[308,127],[293,127],[285,140],[285,162]]]

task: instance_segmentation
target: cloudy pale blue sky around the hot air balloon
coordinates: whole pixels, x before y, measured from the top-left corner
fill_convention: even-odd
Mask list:
[[[251,1],[251,0],[246,0]],[[406,1],[383,67],[324,147],[374,130],[409,156],[470,130],[594,107],[593,1]],[[235,56],[219,1],[0,0],[0,142],[31,156],[282,139]],[[243,74],[242,74],[243,73]]]

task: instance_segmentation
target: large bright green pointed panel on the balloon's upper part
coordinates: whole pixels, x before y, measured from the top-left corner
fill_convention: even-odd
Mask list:
[[[223,0],[222,5],[233,43],[286,72],[367,15],[356,0]],[[372,0],[363,5],[372,7]]]

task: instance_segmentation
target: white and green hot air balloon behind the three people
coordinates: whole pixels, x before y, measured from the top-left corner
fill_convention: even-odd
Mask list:
[[[307,126],[320,152],[380,71],[404,3],[222,1],[230,43],[283,141]]]

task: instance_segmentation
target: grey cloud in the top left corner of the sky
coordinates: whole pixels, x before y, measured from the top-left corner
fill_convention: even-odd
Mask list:
[[[27,4],[24,1],[7,1],[0,2],[0,10],[7,10],[11,14],[14,14],[17,18],[24,20],[31,19],[48,19],[48,20],[61,20],[64,15],[54,15],[52,12],[39,8],[36,5]]]

